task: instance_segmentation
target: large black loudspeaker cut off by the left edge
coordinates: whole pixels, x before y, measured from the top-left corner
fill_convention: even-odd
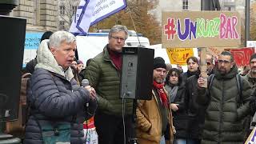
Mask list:
[[[0,15],[0,121],[18,119],[26,19]]]

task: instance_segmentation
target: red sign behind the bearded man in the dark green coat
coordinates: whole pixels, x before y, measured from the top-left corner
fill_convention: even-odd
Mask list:
[[[248,66],[250,64],[250,56],[254,54],[254,48],[231,49],[230,53],[233,54],[234,62],[238,66]]]

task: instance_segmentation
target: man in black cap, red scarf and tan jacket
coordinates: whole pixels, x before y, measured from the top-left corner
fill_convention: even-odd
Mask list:
[[[139,100],[136,109],[136,134],[140,144],[172,143],[174,138],[170,102],[164,88],[166,63],[163,58],[154,58],[152,99]]]

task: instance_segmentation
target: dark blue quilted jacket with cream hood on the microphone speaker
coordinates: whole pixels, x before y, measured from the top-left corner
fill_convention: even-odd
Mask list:
[[[28,90],[30,118],[26,123],[25,144],[42,144],[41,126],[53,122],[70,125],[70,142],[85,143],[82,123],[93,116],[96,102],[77,85],[70,68],[64,72],[48,49],[48,40],[38,49],[38,65]],[[89,108],[85,108],[89,102]]]

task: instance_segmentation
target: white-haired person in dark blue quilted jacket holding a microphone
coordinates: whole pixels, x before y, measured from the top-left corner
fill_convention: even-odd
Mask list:
[[[85,143],[82,122],[94,115],[96,93],[74,80],[75,50],[75,37],[66,31],[41,42],[28,86],[30,118],[23,143]]]

